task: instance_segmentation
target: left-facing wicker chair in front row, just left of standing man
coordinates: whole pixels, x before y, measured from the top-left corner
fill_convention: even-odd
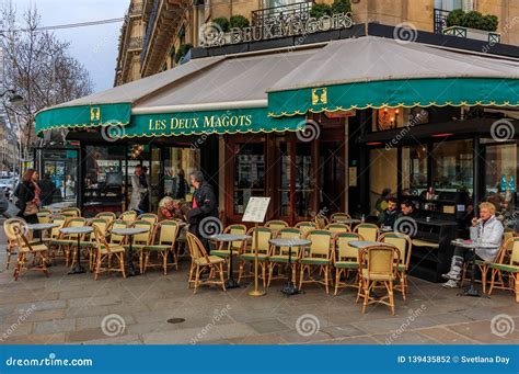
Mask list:
[[[162,220],[157,224],[153,234],[151,235],[151,242],[145,246],[142,253],[145,257],[145,263],[142,273],[146,273],[146,269],[149,267],[162,267],[164,275],[168,275],[168,265],[174,265],[178,270],[178,250],[176,247],[176,237],[178,236],[178,223],[173,219]],[[152,253],[157,253],[158,263],[150,263]],[[168,259],[170,254],[173,258],[173,262],[169,263]]]

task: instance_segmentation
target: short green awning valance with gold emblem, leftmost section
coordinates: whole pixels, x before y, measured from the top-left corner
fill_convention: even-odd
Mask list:
[[[36,134],[55,128],[85,128],[103,125],[127,125],[130,103],[54,106],[36,114]]]

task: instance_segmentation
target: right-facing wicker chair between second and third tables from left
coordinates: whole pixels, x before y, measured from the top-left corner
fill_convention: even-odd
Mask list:
[[[103,272],[120,272],[123,277],[126,279],[125,273],[125,248],[117,243],[108,243],[106,236],[103,231],[94,224],[93,235],[95,238],[95,265],[94,265],[94,280],[97,280],[99,274]],[[119,262],[118,268],[112,268],[113,260],[117,259]]]

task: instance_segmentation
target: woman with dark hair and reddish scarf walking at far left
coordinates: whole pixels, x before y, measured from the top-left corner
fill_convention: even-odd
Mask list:
[[[27,169],[22,175],[22,182],[16,188],[16,206],[20,208],[19,217],[28,224],[38,223],[38,205],[42,190],[38,185],[38,172]]]

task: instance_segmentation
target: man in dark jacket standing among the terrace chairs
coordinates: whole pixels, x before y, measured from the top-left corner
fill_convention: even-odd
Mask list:
[[[204,174],[200,171],[195,171],[191,174],[191,183],[195,188],[195,193],[193,194],[192,208],[187,213],[189,233],[196,235],[209,252],[210,248],[207,237],[212,234],[219,234],[218,230],[221,229],[221,223],[218,219],[216,195],[212,186],[205,181]]]

